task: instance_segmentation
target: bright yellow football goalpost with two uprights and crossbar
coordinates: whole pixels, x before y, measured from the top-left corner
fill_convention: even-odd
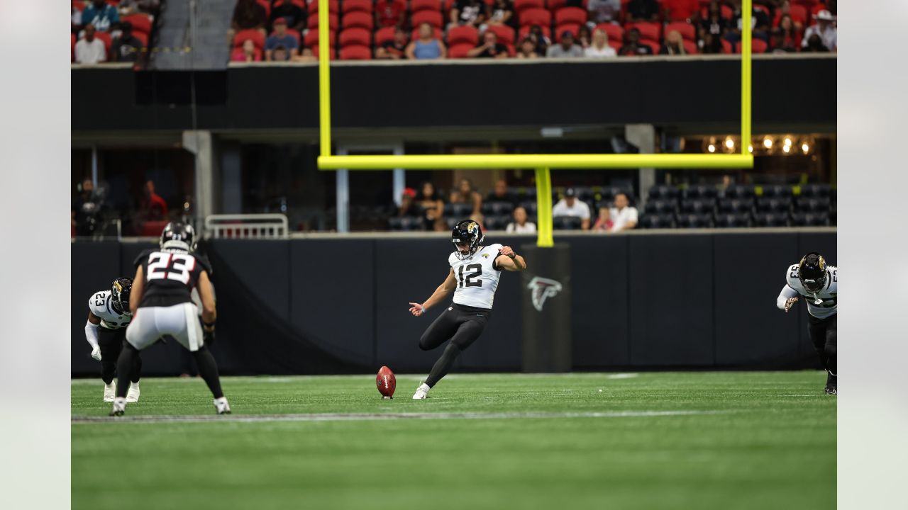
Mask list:
[[[741,149],[728,154],[436,154],[361,155],[331,154],[331,44],[328,40],[329,0],[319,2],[319,170],[455,170],[534,169],[536,171],[537,228],[539,247],[554,246],[551,219],[550,169],[627,168],[753,168],[754,155],[744,141],[751,139],[751,18],[752,0],[743,0],[741,34]],[[731,141],[731,146],[727,145]],[[735,142],[726,140],[728,152]],[[745,152],[746,151],[746,152]]]

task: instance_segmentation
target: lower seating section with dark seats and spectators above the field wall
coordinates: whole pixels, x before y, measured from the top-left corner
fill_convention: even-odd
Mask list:
[[[568,187],[553,191],[556,230],[617,232],[637,228],[743,228],[835,224],[835,190],[828,184],[800,186],[735,184],[650,188],[642,211],[634,191],[623,187]],[[446,231],[469,218],[485,230],[536,231],[535,188],[508,187],[500,180],[483,196],[468,179],[447,200],[431,182],[407,188],[389,219],[390,230]]]

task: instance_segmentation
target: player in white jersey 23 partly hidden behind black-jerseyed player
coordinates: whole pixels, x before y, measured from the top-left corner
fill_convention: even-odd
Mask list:
[[[133,280],[118,278],[110,290],[101,290],[88,299],[88,322],[85,323],[85,339],[92,346],[92,358],[101,362],[101,380],[104,381],[104,402],[114,401],[116,387],[116,360],[123,349],[126,327],[133,319],[129,311],[129,292]],[[129,393],[127,402],[139,401],[139,377],[142,374],[142,358],[135,357],[129,371]]]

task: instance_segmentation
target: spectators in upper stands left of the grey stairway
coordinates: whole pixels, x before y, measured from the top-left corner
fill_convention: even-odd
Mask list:
[[[70,59],[86,65],[140,61],[159,8],[160,0],[73,0]]]

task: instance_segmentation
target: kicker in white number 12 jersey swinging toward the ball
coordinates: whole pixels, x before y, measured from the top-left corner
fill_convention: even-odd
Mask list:
[[[437,348],[446,340],[450,343],[435,362],[429,378],[416,389],[413,399],[428,397],[429,389],[445,377],[460,353],[482,334],[492,313],[501,270],[527,269],[527,262],[509,246],[482,246],[484,239],[476,221],[459,221],[451,232],[456,250],[448,258],[451,267],[448,278],[422,304],[410,303],[410,313],[419,317],[454,291],[454,302],[419,338],[422,350]]]

